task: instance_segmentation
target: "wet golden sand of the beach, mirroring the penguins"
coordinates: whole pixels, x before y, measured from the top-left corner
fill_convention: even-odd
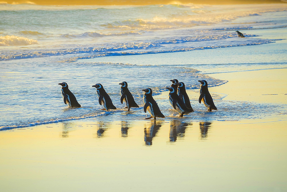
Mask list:
[[[230,102],[286,104],[286,72],[212,74],[228,83],[210,92],[226,95],[224,100]],[[198,91],[188,91],[192,103]],[[166,93],[155,98],[161,102]],[[1,131],[1,190],[287,190],[286,117],[209,122],[107,119]]]

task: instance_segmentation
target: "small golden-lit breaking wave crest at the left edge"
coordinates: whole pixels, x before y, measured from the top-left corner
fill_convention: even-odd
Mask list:
[[[38,41],[14,35],[0,36],[0,46],[19,46],[19,45],[31,45],[31,44],[38,44]]]

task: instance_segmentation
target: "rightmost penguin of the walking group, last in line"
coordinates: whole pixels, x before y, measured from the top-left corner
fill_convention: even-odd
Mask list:
[[[212,109],[217,110],[212,100],[212,97],[208,91],[207,82],[205,80],[199,80],[198,82],[201,83],[200,90],[199,90],[200,96],[199,96],[198,102],[201,103],[202,101],[205,107],[208,108],[208,111],[212,111]]]

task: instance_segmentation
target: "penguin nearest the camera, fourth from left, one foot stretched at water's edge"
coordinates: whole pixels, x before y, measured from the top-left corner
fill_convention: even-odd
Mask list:
[[[156,119],[156,117],[164,118],[164,115],[161,113],[160,108],[158,107],[158,104],[152,97],[152,89],[146,88],[146,89],[143,89],[142,91],[145,92],[144,93],[144,112],[146,113],[146,110],[148,110],[148,112],[150,112],[150,115],[151,115],[150,117],[145,118],[145,119],[150,119],[152,117],[154,117],[154,119]]]

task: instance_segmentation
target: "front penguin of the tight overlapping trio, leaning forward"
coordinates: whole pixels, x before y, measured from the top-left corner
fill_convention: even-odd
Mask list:
[[[192,108],[187,108],[187,106],[184,104],[183,100],[179,98],[177,95],[176,89],[174,87],[167,87],[170,92],[168,94],[168,100],[171,104],[171,106],[177,110],[177,112],[180,114],[179,117],[183,117],[183,114],[189,114],[193,112]]]

